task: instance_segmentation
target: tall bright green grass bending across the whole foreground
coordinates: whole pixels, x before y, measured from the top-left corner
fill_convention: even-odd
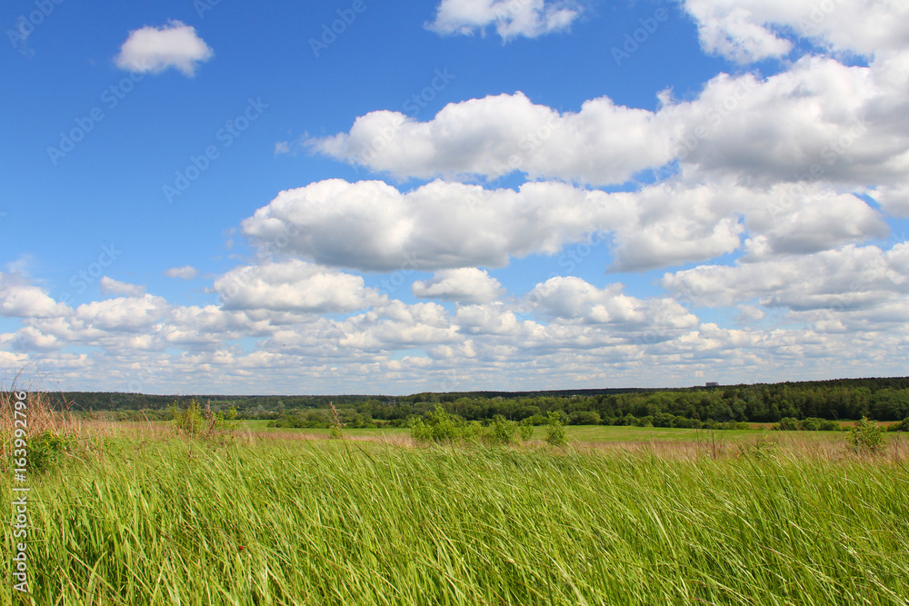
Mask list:
[[[31,499],[42,606],[909,604],[895,458],[115,439]]]

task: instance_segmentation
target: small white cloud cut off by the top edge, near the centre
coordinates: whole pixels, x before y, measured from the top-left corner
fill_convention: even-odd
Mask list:
[[[426,27],[444,35],[473,35],[495,27],[503,40],[567,29],[581,15],[575,3],[544,0],[442,0]]]

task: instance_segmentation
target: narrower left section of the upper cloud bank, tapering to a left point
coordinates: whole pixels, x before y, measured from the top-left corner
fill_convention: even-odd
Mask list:
[[[317,152],[398,177],[524,171],[592,184],[622,183],[672,160],[671,124],[653,112],[615,105],[608,97],[559,114],[523,93],[447,104],[429,122],[378,111],[350,132],[315,138]]]

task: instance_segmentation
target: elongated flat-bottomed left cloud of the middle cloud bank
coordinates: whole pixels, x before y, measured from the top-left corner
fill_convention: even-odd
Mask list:
[[[365,271],[502,267],[557,253],[623,221],[604,192],[528,183],[519,192],[436,181],[401,193],[380,181],[321,181],[288,190],[245,219],[265,252]]]

